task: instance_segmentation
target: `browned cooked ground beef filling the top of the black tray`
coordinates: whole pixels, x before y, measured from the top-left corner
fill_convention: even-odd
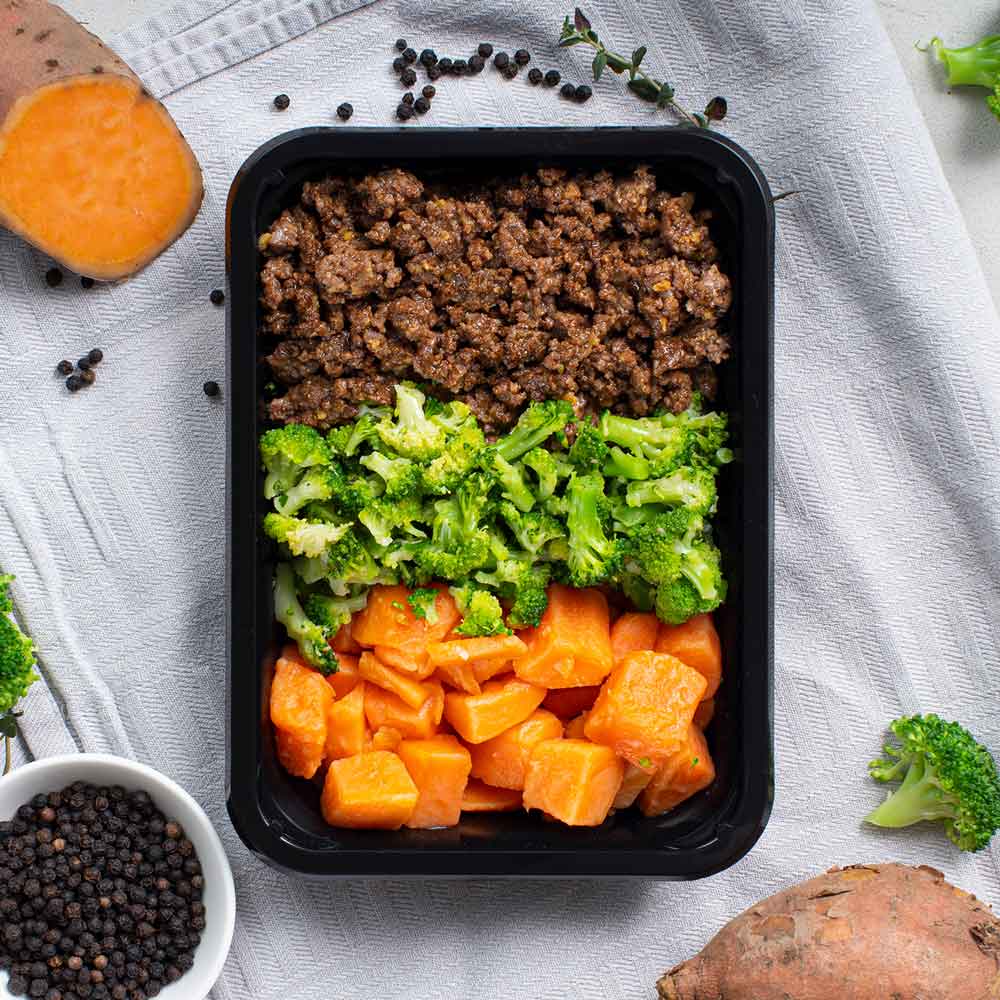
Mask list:
[[[274,419],[326,428],[400,379],[465,400],[490,434],[532,400],[644,415],[711,398],[729,308],[711,213],[645,166],[307,183],[260,239]]]

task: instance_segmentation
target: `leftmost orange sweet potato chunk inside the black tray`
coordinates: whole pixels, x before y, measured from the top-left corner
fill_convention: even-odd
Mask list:
[[[278,760],[289,774],[311,778],[323,763],[333,691],[298,658],[280,657],[271,680],[271,722]]]

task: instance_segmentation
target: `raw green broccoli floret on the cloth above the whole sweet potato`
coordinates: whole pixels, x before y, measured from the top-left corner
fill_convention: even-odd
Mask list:
[[[957,722],[911,715],[889,727],[899,746],[868,765],[876,781],[901,781],[865,817],[875,826],[911,826],[941,820],[963,851],[980,851],[1000,828],[1000,776],[986,747]]]

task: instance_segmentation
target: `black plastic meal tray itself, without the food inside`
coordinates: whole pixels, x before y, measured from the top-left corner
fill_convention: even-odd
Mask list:
[[[732,358],[718,406],[732,416],[737,461],[720,481],[717,537],[729,596],[716,615],[724,680],[707,731],[715,783],[666,815],[635,809],[597,828],[540,814],[471,813],[441,830],[340,830],[319,810],[315,783],[278,765],[268,719],[283,629],[274,621],[274,549],[257,440],[270,380],[257,335],[257,240],[294,204],[302,183],[331,173],[402,166],[467,180],[542,164],[628,169],[648,163],[671,191],[713,211],[712,235],[733,283]],[[593,876],[692,879],[734,864],[760,837],[773,797],[772,327],[774,218],[753,160],[729,140],[687,127],[594,129],[346,129],[291,132],[242,166],[229,195],[228,303],[228,806],[260,858],[313,876]]]

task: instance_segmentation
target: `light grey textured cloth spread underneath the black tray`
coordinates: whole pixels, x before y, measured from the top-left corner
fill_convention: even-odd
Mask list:
[[[556,54],[556,0],[390,0],[329,20],[352,5],[192,3],[118,40],[170,93],[207,181],[194,228],[138,279],[48,289],[45,259],[0,235],[0,561],[47,680],[29,752],[133,755],[205,806],[240,911],[216,1000],[648,997],[729,916],[836,863],[925,862],[1000,901],[996,848],[859,822],[879,797],[865,762],[900,712],[939,710],[1000,749],[1000,324],[867,0],[587,8],[622,49],[646,43],[692,105],[726,94],[725,131],[776,192],[800,192],[777,210],[777,799],[756,849],[694,884],[328,885],[239,843],[223,790],[224,402],[201,392],[224,374],[207,296],[229,181],[341,100],[352,124],[392,124],[398,35],[439,54],[524,44],[586,77],[581,50]],[[584,107],[493,72],[439,89],[428,124],[660,120],[615,79]],[[96,344],[97,386],[68,396],[52,366]]]

